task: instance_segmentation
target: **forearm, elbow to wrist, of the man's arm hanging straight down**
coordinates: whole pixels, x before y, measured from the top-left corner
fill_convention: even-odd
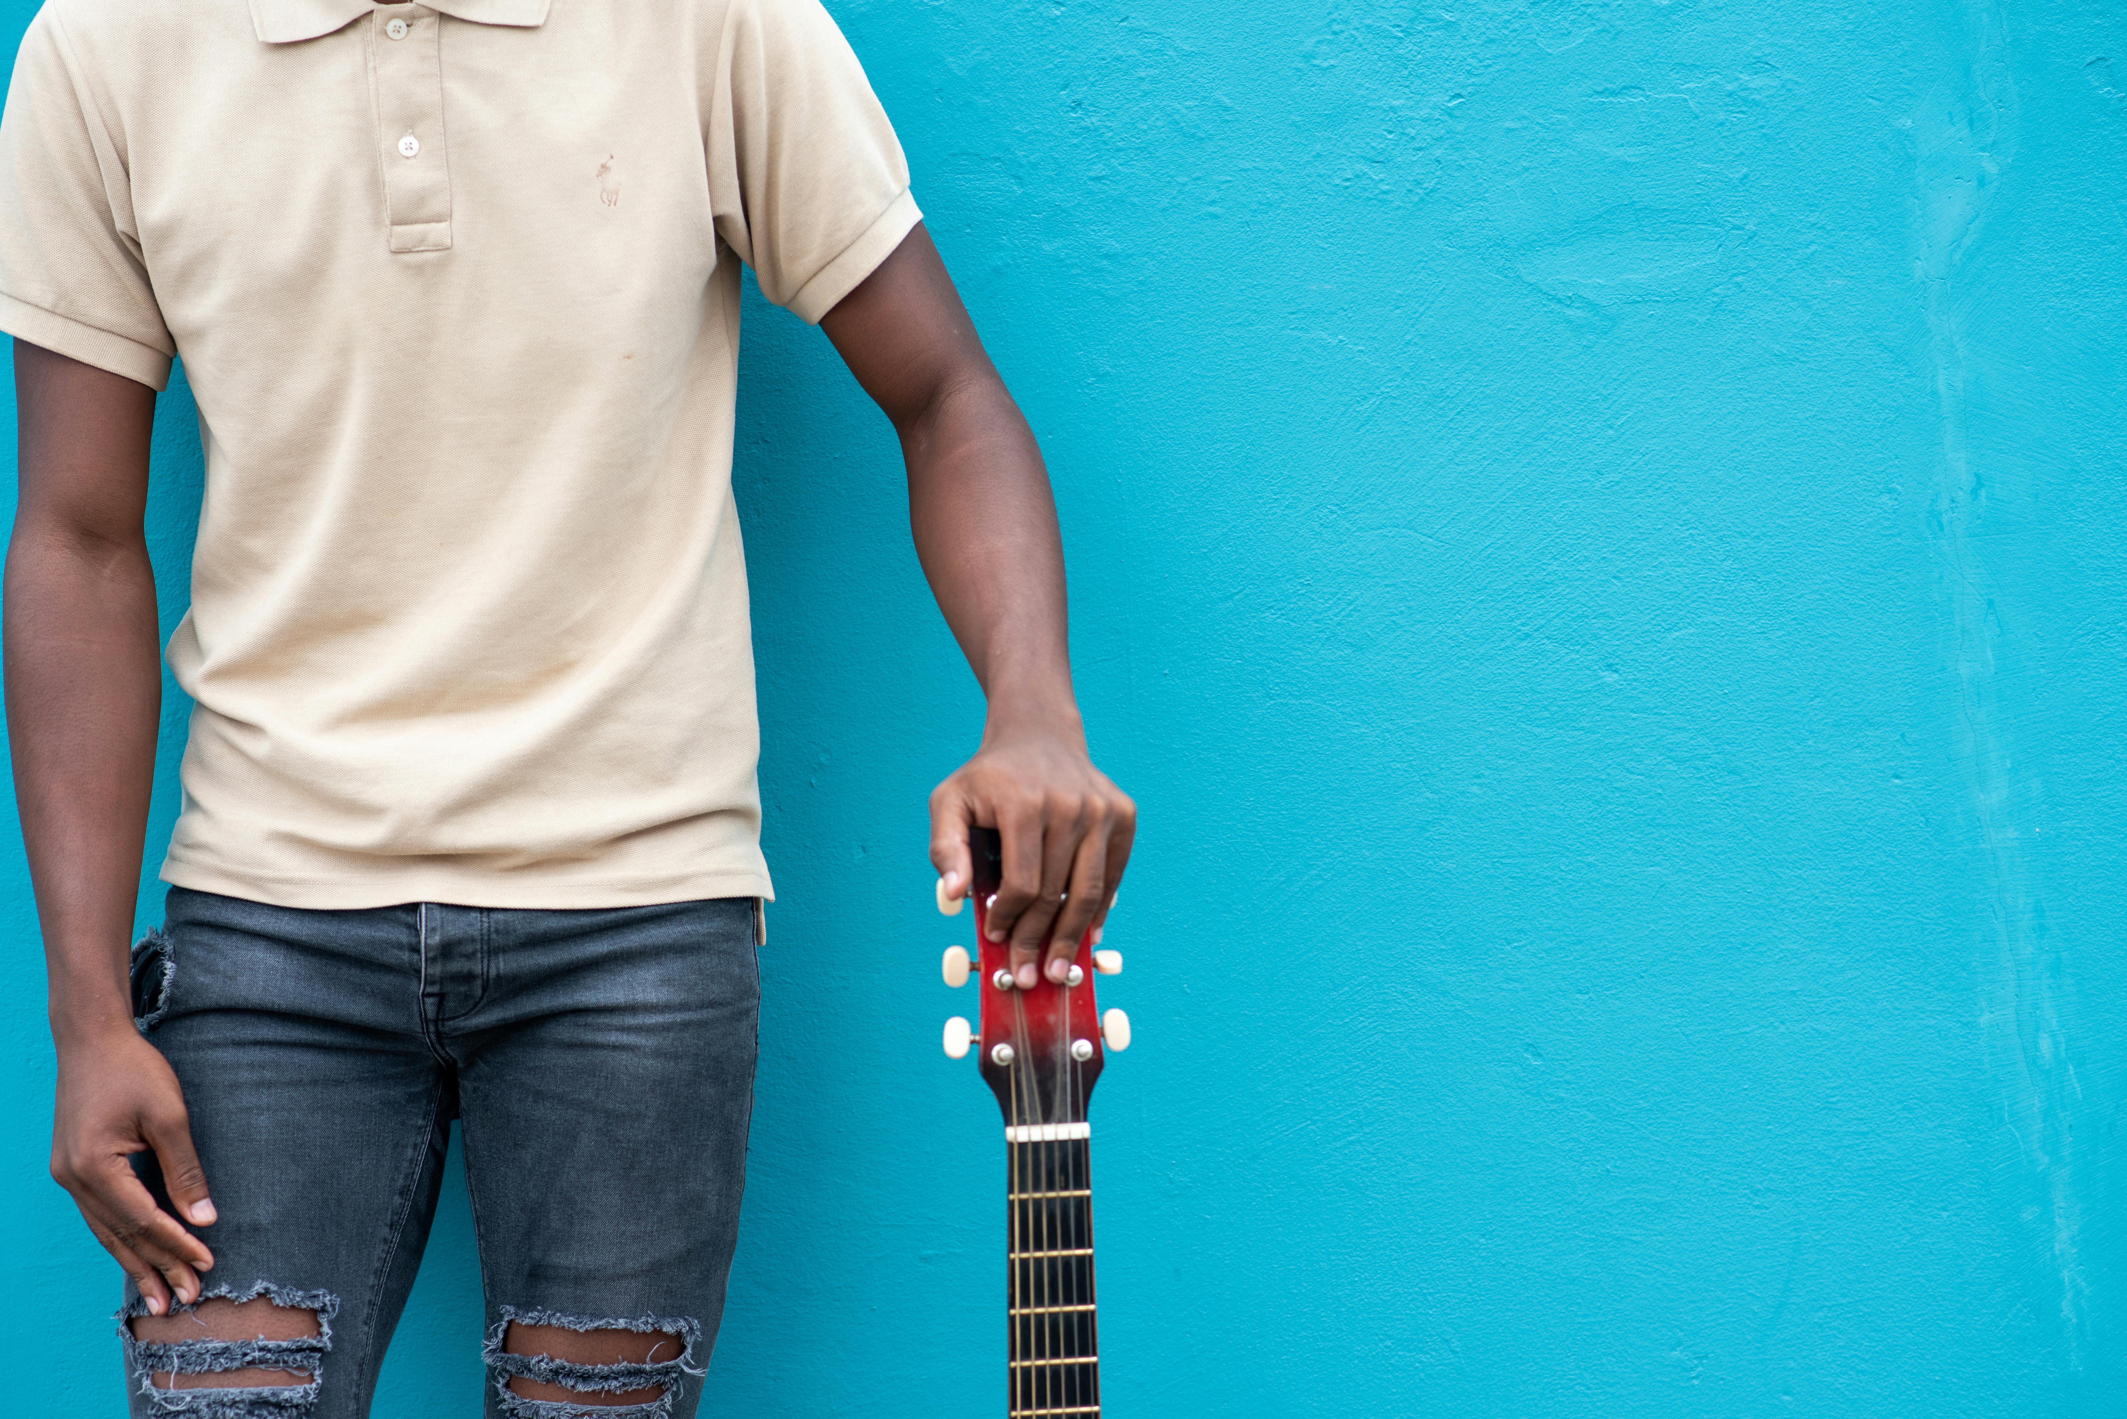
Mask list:
[[[132,1028],[125,959],[160,700],[145,542],[17,521],[6,562],[9,747],[62,1049]]]

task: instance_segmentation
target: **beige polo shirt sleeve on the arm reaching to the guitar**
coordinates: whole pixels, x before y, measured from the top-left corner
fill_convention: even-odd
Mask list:
[[[708,87],[717,234],[819,323],[923,219],[893,126],[819,0],[732,0]]]

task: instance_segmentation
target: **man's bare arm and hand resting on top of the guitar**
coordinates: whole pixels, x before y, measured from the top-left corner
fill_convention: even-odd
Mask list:
[[[991,940],[1021,985],[1059,981],[1108,915],[1138,806],[1085,747],[1042,453],[921,226],[821,330],[902,438],[917,557],[989,700],[981,749],[932,791],[932,862],[966,896],[968,830],[995,828]]]

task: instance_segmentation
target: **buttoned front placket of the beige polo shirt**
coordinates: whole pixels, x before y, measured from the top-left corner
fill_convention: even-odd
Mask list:
[[[440,28],[442,17],[419,4],[379,4],[372,15],[370,74],[391,251],[451,247]]]

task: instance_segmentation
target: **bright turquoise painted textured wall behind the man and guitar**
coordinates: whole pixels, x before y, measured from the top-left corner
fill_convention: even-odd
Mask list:
[[[830,6],[1049,449],[1144,811],[1110,1413],[2118,1415],[2127,11]],[[885,421],[747,321],[783,898],[704,1413],[1002,1413],[923,830],[981,702]],[[157,457],[172,621],[183,389]],[[0,1370],[117,1415],[0,874]],[[476,1413],[476,1293],[453,1187],[379,1415]]]

